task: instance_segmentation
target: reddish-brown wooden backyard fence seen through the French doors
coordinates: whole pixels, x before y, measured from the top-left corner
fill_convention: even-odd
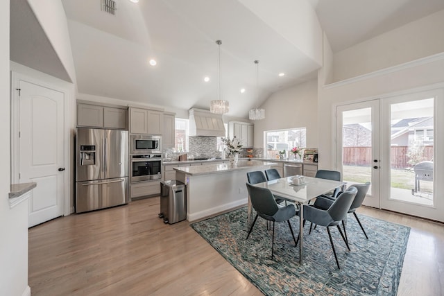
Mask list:
[[[391,147],[391,168],[409,168],[409,157],[407,146]],[[373,164],[371,147],[344,147],[342,160],[347,166],[370,166]],[[433,146],[424,147],[424,157],[422,160],[433,159]]]

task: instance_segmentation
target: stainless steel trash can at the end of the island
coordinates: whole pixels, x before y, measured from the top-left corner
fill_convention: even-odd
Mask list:
[[[177,223],[187,218],[185,184],[176,180],[160,182],[160,214],[164,223]]]

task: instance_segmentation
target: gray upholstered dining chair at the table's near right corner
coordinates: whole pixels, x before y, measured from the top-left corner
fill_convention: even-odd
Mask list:
[[[332,240],[332,234],[330,233],[330,227],[336,226],[339,230],[339,233],[341,234],[341,237],[347,245],[348,250],[350,251],[350,246],[348,245],[348,241],[345,238],[347,235],[345,232],[344,227],[344,234],[341,231],[341,227],[339,227],[339,223],[341,223],[345,218],[347,218],[348,210],[350,209],[350,206],[352,205],[353,200],[355,200],[355,196],[357,193],[357,189],[355,187],[351,187],[347,189],[346,191],[343,191],[340,193],[336,200],[332,201],[330,204],[330,207],[327,209],[321,209],[317,207],[317,199],[316,202],[312,205],[307,205],[305,207],[302,207],[304,211],[304,224],[305,221],[309,221],[311,223],[314,223],[319,226],[324,226],[327,228],[328,237],[330,238],[330,244],[332,245],[334,259],[336,259],[336,265],[338,265],[338,268],[341,269],[339,266],[338,256],[336,256],[336,250],[334,250],[334,243]],[[326,198],[321,198],[321,200],[327,200]],[[299,212],[298,212],[299,214]],[[296,241],[296,245],[299,241],[299,235],[298,240]]]

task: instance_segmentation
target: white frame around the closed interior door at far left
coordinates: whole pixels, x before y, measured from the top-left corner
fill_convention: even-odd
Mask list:
[[[46,74],[44,74],[46,75]],[[35,85],[40,85],[49,89],[53,89],[57,92],[62,92],[64,94],[65,110],[64,110],[64,146],[65,151],[65,171],[63,182],[65,184],[64,188],[64,205],[63,205],[63,216],[68,216],[71,214],[71,91],[67,88],[58,87],[51,82],[44,82],[43,80],[33,78],[31,76],[26,76],[22,73],[17,73],[11,71],[11,184],[18,184],[19,181],[19,82],[23,80],[26,82],[33,83]]]

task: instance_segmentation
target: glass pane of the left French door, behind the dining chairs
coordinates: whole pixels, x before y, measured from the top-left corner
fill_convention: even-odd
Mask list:
[[[342,112],[343,181],[348,186],[372,179],[372,109]],[[368,191],[371,194],[371,186]]]

